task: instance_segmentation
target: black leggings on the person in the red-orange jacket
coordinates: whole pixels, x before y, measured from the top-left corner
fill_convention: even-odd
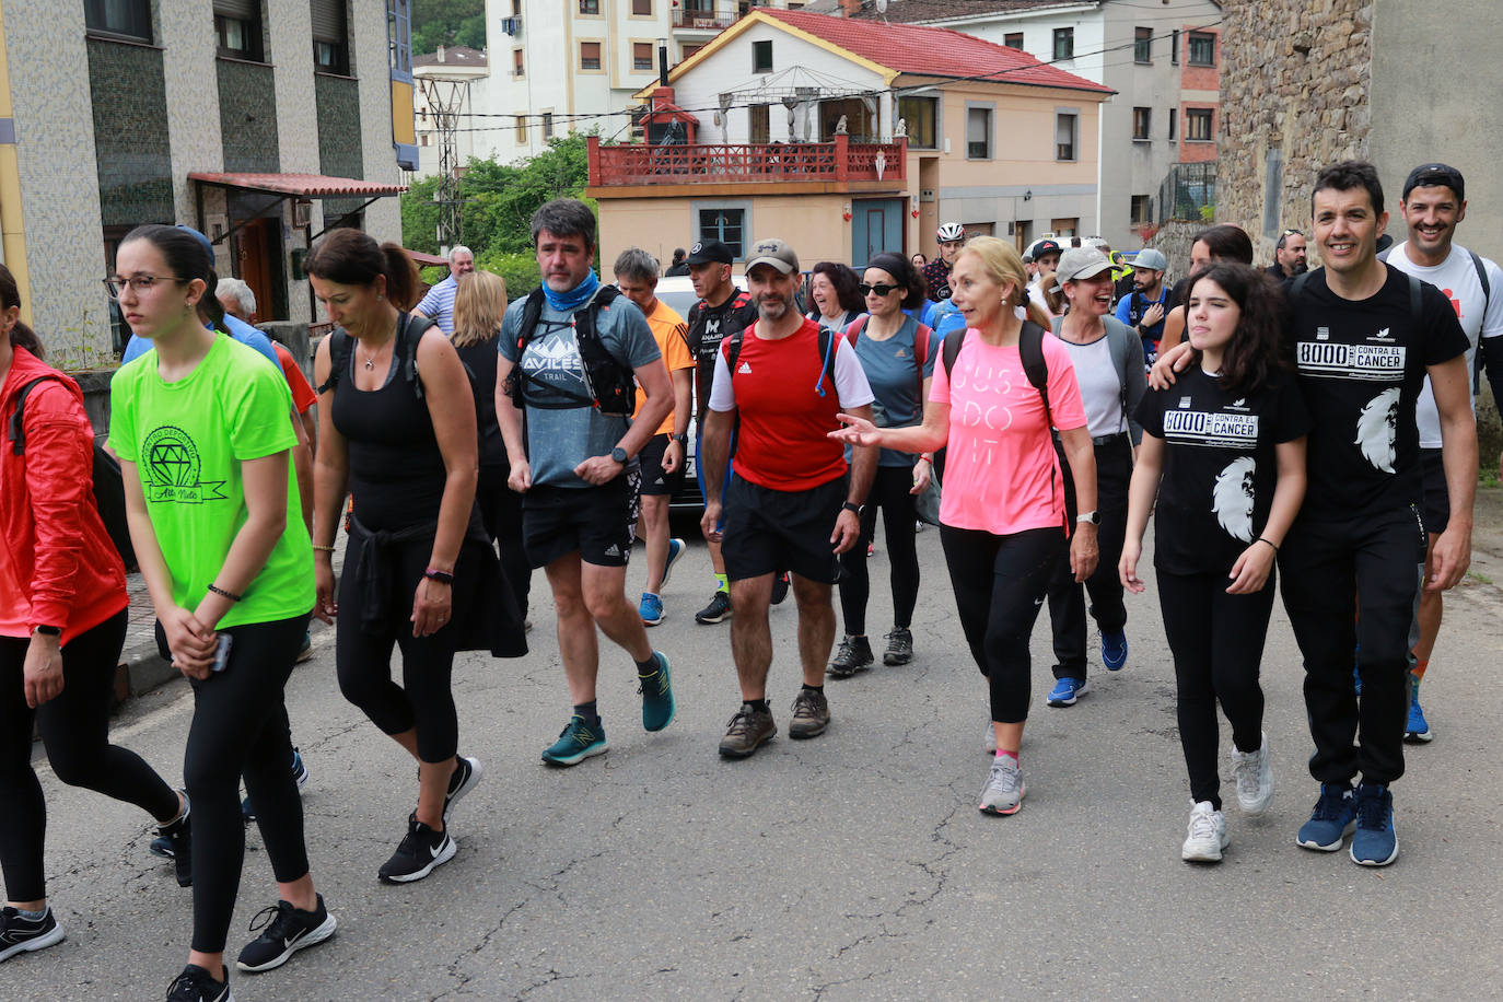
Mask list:
[[[122,610],[68,641],[63,691],[35,711],[23,688],[30,640],[0,637],[0,868],[12,901],[47,897],[47,804],[32,769],[33,721],[63,783],[135,804],[158,822],[177,816],[177,795],[162,777],[134,751],[110,744],[110,693],[126,617]]]

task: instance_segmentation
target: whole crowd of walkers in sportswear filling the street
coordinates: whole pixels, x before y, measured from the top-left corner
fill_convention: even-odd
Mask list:
[[[687,320],[655,297],[658,261],[645,251],[616,258],[615,285],[600,281],[595,221],[579,201],[537,212],[543,287],[510,305],[464,248],[451,258],[452,287],[419,303],[398,246],[334,230],[305,263],[335,324],[314,359],[316,434],[292,373],[268,365],[243,332],[221,337],[231,330],[212,245],[185,227],[132,230],[107,284],[146,344],[111,386],[108,449],[165,652],[192,685],[180,792],[108,744],[128,601],[90,484],[98,494],[95,472],[110,460],[96,454],[77,385],[45,365],[20,321],[17,284],[0,266],[0,418],[12,443],[0,455],[0,804],[11,820],[0,960],[63,937],[44,880],[33,721],[57,775],[147,811],[158,850],[192,886],[188,964],[170,1000],[230,997],[242,816],[262,831],[277,903],[253,924],[259,936],[237,967],[269,970],[335,933],[310,873],[298,793],[307,774],[284,703],[310,614],[337,626],[344,696],[416,763],[404,832],[376,867],[385,882],[419,880],[457,852],[452,808],[482,768],[460,753],[454,655],[526,653],[532,569],[553,595],[571,703],[543,762],[573,766],[609,747],[597,628],[636,669],[643,729],[667,727],[678,714],[670,664],[646,628],[664,620],[663,584],[685,550],[669,538],[667,497],[685,475],[694,415],[715,575],[694,617],[730,617],[739,688],[721,756],[748,757],[777,735],[768,610],[783,593],[798,611],[791,738],[828,729],[827,673],[875,662],[867,554],[878,514],[894,619],[884,662],[914,656],[915,521],[939,487],[938,535],[987,696],[980,810],[1016,813],[1039,611],[1048,601],[1054,622],[1046,702],[1070,706],[1088,691],[1088,613],[1105,667],[1127,662],[1124,590],[1145,589],[1138,565],[1153,514],[1193,802],[1183,858],[1217,861],[1229,843],[1217,703],[1232,726],[1238,804],[1249,816],[1269,810],[1258,675],[1282,569],[1321,784],[1297,841],[1333,852],[1356,832],[1356,862],[1392,862],[1402,742],[1429,738],[1417,691],[1438,593],[1470,559],[1479,335],[1503,388],[1503,306],[1491,293],[1503,273],[1452,242],[1465,209],[1453,168],[1410,176],[1410,240],[1387,261],[1371,165],[1327,167],[1314,189],[1323,269],[1279,285],[1250,267],[1246,234],[1214,227],[1196,242],[1183,302],[1166,309],[1166,269],[1150,255],[1144,270],[1156,273],[1138,282],[1144,302],[1124,320],[1112,315],[1102,251],[1045,248],[1037,257],[1049,260],[1031,270],[1046,266],[1048,278],[1031,282],[1010,245],[965,240],[959,227],[941,230],[941,257],[923,270],[879,254],[852,285],[854,273],[816,266],[809,317],[783,240],[748,243],[747,291],[730,281],[727,246],[694,245],[682,264],[700,302]],[[947,323],[936,330],[920,311],[941,284]],[[1039,285],[1063,297],[1058,312],[1040,308]],[[625,571],[639,526],[648,587],[633,605]]]

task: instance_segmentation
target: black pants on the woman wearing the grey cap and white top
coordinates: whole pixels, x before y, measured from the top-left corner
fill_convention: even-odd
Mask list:
[[[1075,532],[1075,478],[1061,457],[1064,506],[1070,532]],[[1127,625],[1127,605],[1117,562],[1127,538],[1127,484],[1132,481],[1132,440],[1123,434],[1096,446],[1096,511],[1102,524],[1096,532],[1100,562],[1085,584],[1070,572],[1069,551],[1055,566],[1049,581],[1049,623],[1054,629],[1054,678],[1085,678],[1085,595],[1091,596],[1091,616],[1102,632],[1117,632]]]

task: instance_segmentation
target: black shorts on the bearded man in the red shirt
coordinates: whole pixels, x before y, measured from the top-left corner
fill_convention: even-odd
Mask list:
[[[726,488],[720,542],[726,577],[738,581],[792,571],[810,581],[834,584],[840,560],[830,535],[845,499],[845,476],[804,491],[776,491],[738,476]]]

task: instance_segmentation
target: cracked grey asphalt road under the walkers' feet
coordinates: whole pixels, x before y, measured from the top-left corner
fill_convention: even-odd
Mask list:
[[[1503,524],[1500,493],[1480,521]],[[1491,521],[1489,521],[1491,518]],[[1498,553],[1497,532],[1479,533]],[[1299,658],[1275,611],[1264,658],[1278,795],[1263,822],[1229,796],[1219,867],[1180,861],[1189,810],[1172,669],[1151,592],[1130,601],[1132,656],[1048,709],[1048,632],[1034,634],[1028,796],[1013,817],[975,810],[987,769],[984,688],[959,635],[938,533],[920,536],[917,656],[828,687],[822,738],[724,762],[738,696],[727,626],[699,626],[709,595],[696,541],[652,631],[673,662],[678,720],[639,723],[630,661],[606,656],[612,751],[538,763],[567,690],[537,580],[534,653],[466,655],[455,670],[461,750],[484,762],[455,810],[455,859],[385,886],[376,868],[415,801],[410,760],[349,706],[332,644],[289,685],[313,772],[304,802],[314,877],[338,936],[286,967],[236,975],[271,999],[918,999],[1459,997],[1497,993],[1503,961],[1503,560],[1447,599],[1425,684],[1438,735],[1395,786],[1402,855],[1386,870],[1311,853],[1294,832],[1315,799]],[[637,565],[628,583],[640,586]],[[881,551],[873,578],[885,581]],[[878,584],[870,625],[887,629]],[[774,610],[771,699],[786,733],[797,690],[792,604]],[[1094,644],[1094,637],[1093,637]],[[1480,684],[1479,684],[1480,682]],[[173,684],[138,700],[117,741],[180,777],[191,703]],[[1223,729],[1223,748],[1229,738]],[[68,940],[0,964],[0,999],[161,999],[186,958],[189,892],[147,853],[128,805],[63,787],[44,766],[50,892]],[[1223,777],[1228,769],[1223,766]],[[1229,792],[1229,789],[1228,789]],[[248,835],[231,954],[275,889]]]

